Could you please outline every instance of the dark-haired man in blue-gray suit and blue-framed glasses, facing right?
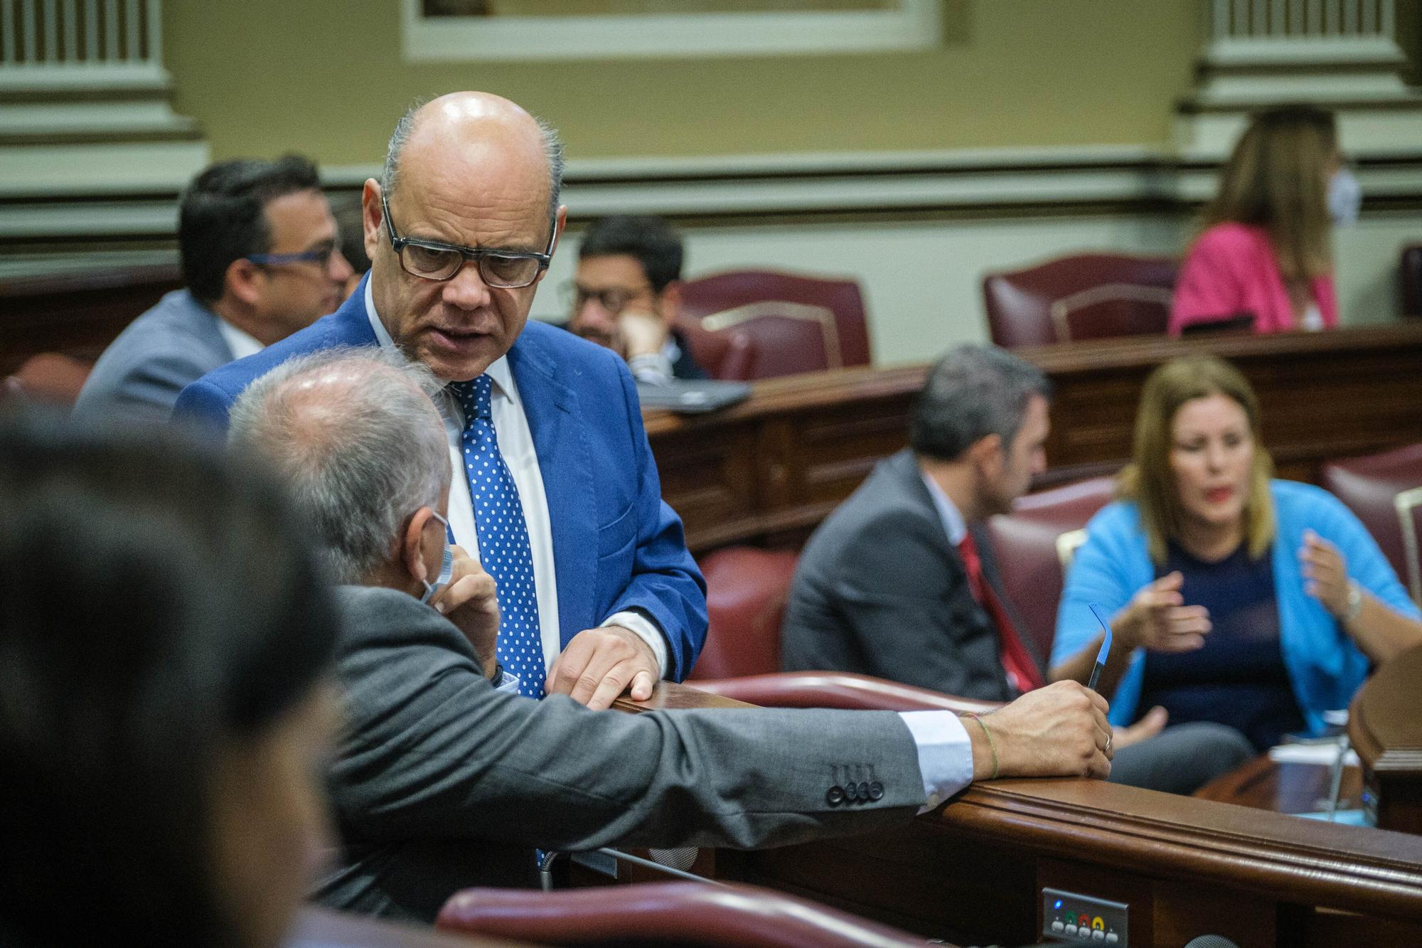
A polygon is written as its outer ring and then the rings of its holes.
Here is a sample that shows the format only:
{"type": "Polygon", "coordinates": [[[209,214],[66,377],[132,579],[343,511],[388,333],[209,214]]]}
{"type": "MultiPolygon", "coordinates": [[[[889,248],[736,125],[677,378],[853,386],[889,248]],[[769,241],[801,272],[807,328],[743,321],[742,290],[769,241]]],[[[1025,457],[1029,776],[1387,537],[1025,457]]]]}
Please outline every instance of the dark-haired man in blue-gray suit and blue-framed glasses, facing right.
{"type": "Polygon", "coordinates": [[[179,199],[186,289],[119,333],[75,411],[165,423],[183,386],[334,310],[351,266],[306,158],[239,158],[202,171],[179,199]]]}

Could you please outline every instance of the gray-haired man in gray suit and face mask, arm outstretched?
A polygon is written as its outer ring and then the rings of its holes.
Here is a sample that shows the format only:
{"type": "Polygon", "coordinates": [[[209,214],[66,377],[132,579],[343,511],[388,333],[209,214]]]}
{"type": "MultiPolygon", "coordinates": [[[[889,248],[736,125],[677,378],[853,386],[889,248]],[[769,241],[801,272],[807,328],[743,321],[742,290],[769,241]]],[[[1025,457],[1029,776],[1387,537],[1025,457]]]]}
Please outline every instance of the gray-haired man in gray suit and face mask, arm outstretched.
{"type": "Polygon", "coordinates": [[[532,847],[764,847],[866,831],[974,777],[1105,776],[1106,703],[1075,682],[966,727],[947,712],[594,712],[508,690],[493,581],[448,545],[439,381],[375,349],[289,360],[232,410],[344,582],[350,725],[330,773],[347,864],[330,905],[431,920],[526,884],[532,847]]]}

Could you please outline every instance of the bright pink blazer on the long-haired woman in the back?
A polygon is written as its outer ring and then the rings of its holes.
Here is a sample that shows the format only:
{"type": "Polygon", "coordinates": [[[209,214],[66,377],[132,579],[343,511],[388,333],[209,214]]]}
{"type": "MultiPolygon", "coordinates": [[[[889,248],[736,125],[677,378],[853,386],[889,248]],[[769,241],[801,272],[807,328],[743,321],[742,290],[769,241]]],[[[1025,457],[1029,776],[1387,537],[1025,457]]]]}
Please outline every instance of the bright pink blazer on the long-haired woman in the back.
{"type": "MultiPolygon", "coordinates": [[[[1332,329],[1338,325],[1332,278],[1315,278],[1313,293],[1324,326],[1332,329]]],[[[1185,258],[1170,305],[1169,332],[1179,336],[1183,326],[1244,313],[1253,313],[1256,333],[1298,327],[1268,233],[1243,223],[1217,223],[1200,235],[1185,258]]]]}

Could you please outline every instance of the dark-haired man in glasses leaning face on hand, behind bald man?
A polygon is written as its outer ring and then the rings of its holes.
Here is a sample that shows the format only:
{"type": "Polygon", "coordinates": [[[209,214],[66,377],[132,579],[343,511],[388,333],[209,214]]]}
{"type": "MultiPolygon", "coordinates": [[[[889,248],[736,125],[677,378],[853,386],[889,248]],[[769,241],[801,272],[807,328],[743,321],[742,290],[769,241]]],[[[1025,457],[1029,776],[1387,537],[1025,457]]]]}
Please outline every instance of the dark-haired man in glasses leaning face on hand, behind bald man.
{"type": "Polygon", "coordinates": [[[681,238],[661,218],[593,221],[565,286],[567,327],[627,360],[637,381],[705,379],[673,320],[681,303],[681,238]]]}

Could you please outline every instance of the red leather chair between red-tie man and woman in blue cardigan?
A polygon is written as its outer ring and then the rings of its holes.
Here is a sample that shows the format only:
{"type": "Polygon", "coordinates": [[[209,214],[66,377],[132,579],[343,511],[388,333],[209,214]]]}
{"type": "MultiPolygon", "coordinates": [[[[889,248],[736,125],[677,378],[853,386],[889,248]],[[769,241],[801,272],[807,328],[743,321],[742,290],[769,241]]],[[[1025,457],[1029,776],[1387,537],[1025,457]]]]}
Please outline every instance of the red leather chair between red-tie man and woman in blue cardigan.
{"type": "Polygon", "coordinates": [[[1057,604],[1071,554],[1085,539],[1082,528],[1111,502],[1115,478],[1094,477],[1049,491],[1027,494],[1012,512],[988,521],[1007,598],[1041,653],[1052,653],[1057,604]]]}

